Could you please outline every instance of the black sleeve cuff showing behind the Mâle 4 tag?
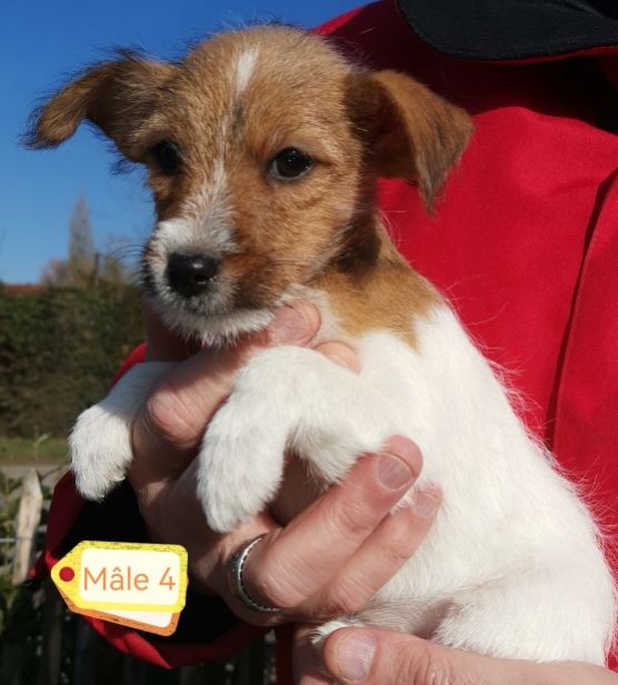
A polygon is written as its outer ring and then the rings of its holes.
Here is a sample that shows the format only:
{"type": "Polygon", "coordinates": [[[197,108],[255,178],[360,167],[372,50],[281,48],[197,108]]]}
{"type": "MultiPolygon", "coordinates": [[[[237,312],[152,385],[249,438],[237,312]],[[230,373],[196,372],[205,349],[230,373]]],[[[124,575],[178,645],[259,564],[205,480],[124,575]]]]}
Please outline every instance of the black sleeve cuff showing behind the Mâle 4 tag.
{"type": "MultiPolygon", "coordinates": [[[[148,543],[143,519],[136,496],[124,482],[103,502],[87,502],[74,526],[64,538],[59,556],[69,553],[82,540],[148,543]]],[[[176,632],[163,637],[136,631],[152,643],[210,643],[239,623],[226,603],[218,597],[187,589],[187,605],[180,613],[176,632]]]]}

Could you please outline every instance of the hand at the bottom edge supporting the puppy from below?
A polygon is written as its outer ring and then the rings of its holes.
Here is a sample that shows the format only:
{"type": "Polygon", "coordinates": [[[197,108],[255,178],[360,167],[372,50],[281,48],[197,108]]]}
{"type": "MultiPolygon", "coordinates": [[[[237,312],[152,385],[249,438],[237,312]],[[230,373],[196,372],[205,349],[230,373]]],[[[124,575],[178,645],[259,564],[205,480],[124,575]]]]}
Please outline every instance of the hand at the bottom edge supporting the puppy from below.
{"type": "Polygon", "coordinates": [[[618,685],[618,674],[591,664],[492,658],[372,628],[337,631],[322,657],[330,677],[299,685],[618,685]]]}

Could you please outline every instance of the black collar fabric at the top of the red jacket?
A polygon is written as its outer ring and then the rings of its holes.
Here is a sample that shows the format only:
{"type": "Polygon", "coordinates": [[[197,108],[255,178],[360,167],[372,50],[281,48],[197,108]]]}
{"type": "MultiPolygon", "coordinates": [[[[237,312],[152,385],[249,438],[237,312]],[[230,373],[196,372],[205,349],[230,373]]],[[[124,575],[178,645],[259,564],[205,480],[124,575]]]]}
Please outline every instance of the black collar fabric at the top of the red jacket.
{"type": "Polygon", "coordinates": [[[618,46],[618,0],[397,0],[415,33],[451,57],[505,60],[618,46]]]}

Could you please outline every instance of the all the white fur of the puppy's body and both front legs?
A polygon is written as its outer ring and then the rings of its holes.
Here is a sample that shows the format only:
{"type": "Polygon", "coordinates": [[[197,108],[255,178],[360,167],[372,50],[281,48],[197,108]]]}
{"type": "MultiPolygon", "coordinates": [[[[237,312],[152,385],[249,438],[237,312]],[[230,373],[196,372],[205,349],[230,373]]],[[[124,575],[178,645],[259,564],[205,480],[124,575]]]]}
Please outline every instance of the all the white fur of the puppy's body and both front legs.
{"type": "MultiPolygon", "coordinates": [[[[336,330],[328,308],[321,314],[336,330]]],[[[443,506],[412,559],[362,610],[321,626],[318,639],[368,624],[495,656],[602,664],[616,602],[589,513],[451,310],[438,307],[413,325],[417,350],[387,331],[357,340],[358,375],[297,347],[249,361],[199,455],[209,524],[230,530],[265,508],[287,447],[328,485],[390,435],[408,436],[423,454],[419,483],[438,483],[443,506]]],[[[162,370],[140,365],[80,417],[71,447],[83,494],[100,497],[122,477],[128,426],[162,370]]]]}

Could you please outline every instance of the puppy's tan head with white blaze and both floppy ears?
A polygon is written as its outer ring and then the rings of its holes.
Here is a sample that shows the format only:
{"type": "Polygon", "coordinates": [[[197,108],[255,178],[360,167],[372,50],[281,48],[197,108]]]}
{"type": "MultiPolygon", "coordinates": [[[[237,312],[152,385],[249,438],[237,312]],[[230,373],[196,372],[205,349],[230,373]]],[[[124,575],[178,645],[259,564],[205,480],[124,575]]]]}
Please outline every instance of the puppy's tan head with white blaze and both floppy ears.
{"type": "Polygon", "coordinates": [[[367,252],[376,177],[416,181],[430,206],[470,133],[412,79],[285,27],[218,36],[179,63],[102,63],[38,112],[30,142],[59,145],[83,120],[148,168],[143,276],[165,321],[219,341],[367,252]]]}

